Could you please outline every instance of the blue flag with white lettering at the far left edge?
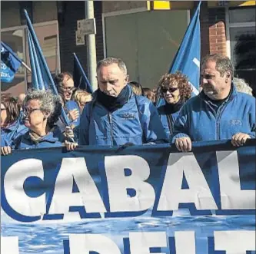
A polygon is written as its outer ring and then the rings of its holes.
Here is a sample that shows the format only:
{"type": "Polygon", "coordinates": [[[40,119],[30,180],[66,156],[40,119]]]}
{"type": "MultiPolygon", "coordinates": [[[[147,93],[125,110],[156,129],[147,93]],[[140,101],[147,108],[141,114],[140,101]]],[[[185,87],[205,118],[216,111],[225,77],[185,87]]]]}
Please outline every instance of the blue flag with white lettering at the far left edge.
{"type": "Polygon", "coordinates": [[[1,81],[11,83],[21,64],[12,48],[1,41],[1,81]]]}

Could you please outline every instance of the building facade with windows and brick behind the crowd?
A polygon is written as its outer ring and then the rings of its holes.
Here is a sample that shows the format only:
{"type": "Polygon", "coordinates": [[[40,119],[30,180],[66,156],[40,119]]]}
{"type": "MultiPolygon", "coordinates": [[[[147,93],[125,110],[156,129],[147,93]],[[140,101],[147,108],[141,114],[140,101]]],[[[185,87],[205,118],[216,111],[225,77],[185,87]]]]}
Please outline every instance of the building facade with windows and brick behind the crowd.
{"type": "MultiPolygon", "coordinates": [[[[50,71],[73,70],[75,52],[87,71],[85,43],[75,35],[77,21],[85,18],[85,2],[1,2],[1,37],[29,65],[25,16],[28,11],[50,71]]],[[[97,60],[123,58],[130,78],[155,87],[168,71],[198,1],[95,1],[97,60]]],[[[255,87],[255,1],[203,1],[201,56],[228,55],[235,74],[255,87]]],[[[20,68],[2,91],[25,92],[31,74],[20,68]]]]}

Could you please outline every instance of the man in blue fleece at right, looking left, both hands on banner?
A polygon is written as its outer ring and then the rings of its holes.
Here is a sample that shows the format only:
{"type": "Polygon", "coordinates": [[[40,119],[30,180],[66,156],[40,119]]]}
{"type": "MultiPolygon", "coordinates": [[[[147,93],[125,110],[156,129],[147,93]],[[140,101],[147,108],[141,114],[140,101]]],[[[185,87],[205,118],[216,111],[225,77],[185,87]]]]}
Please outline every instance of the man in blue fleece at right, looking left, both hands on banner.
{"type": "Polygon", "coordinates": [[[255,138],[255,98],[236,91],[231,60],[207,55],[201,63],[201,87],[181,108],[172,141],[178,150],[191,150],[191,141],[231,140],[235,147],[255,138]]]}

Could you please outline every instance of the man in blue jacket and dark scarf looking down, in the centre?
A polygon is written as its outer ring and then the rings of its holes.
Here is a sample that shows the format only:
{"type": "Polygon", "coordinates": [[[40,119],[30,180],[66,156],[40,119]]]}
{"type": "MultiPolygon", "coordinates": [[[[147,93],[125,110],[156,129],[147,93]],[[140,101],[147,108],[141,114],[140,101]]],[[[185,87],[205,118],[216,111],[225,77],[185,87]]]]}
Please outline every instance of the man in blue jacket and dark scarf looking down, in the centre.
{"type": "Polygon", "coordinates": [[[121,59],[99,61],[97,80],[98,90],[81,114],[79,145],[167,142],[157,109],[146,97],[131,91],[127,68],[121,59]]]}

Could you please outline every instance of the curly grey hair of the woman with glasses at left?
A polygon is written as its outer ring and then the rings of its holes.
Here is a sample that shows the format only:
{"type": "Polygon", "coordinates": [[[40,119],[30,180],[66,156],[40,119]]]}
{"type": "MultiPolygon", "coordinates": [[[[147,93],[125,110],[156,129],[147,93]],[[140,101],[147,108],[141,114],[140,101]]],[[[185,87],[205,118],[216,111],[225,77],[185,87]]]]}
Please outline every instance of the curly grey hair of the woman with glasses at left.
{"type": "Polygon", "coordinates": [[[53,127],[62,111],[61,97],[52,94],[52,91],[29,91],[23,101],[23,108],[28,101],[38,100],[41,111],[48,113],[48,125],[53,127]]]}

